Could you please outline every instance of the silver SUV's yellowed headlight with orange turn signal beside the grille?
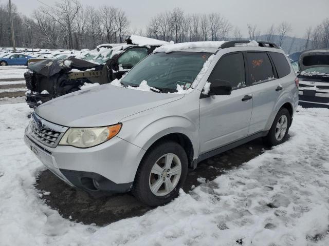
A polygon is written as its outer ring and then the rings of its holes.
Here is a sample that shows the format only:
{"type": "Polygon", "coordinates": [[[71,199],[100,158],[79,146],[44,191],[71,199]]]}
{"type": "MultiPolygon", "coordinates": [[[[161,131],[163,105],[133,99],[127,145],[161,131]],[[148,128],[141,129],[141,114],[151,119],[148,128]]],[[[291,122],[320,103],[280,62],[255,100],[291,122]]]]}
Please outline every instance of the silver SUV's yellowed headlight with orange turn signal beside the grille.
{"type": "Polygon", "coordinates": [[[59,145],[70,145],[78,148],[89,148],[100,145],[113,138],[121,130],[122,124],[108,127],[70,128],[62,137],[59,145]]]}

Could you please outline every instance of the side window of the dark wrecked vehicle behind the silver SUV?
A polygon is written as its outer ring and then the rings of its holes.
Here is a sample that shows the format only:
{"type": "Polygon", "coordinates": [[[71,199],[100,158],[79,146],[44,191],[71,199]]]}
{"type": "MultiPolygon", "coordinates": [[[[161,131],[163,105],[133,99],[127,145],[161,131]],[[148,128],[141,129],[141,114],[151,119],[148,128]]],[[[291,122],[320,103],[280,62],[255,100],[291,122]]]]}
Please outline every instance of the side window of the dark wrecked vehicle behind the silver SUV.
{"type": "Polygon", "coordinates": [[[131,69],[147,55],[147,48],[129,49],[119,57],[118,64],[122,66],[123,69],[131,69]]]}

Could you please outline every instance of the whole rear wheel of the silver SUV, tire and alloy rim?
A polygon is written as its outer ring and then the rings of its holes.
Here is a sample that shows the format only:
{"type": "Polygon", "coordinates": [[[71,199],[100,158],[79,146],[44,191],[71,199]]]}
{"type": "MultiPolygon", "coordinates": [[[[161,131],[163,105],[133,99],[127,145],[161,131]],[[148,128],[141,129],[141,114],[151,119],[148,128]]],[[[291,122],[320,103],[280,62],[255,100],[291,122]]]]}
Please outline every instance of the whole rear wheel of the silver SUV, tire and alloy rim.
{"type": "Polygon", "coordinates": [[[272,127],[267,136],[263,137],[265,144],[268,146],[276,146],[282,144],[286,140],[290,126],[290,113],[286,108],[279,110],[275,117],[272,127]]]}

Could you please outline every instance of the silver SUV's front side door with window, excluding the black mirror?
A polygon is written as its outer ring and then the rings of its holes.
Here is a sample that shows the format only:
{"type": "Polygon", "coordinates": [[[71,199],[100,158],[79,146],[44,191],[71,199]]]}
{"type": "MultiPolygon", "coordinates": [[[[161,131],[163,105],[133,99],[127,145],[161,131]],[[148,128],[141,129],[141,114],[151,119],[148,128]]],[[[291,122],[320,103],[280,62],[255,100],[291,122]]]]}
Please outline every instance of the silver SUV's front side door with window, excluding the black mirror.
{"type": "Polygon", "coordinates": [[[200,153],[242,139],[249,130],[252,97],[246,87],[244,54],[222,56],[209,76],[213,79],[228,81],[232,93],[200,98],[200,153]]]}

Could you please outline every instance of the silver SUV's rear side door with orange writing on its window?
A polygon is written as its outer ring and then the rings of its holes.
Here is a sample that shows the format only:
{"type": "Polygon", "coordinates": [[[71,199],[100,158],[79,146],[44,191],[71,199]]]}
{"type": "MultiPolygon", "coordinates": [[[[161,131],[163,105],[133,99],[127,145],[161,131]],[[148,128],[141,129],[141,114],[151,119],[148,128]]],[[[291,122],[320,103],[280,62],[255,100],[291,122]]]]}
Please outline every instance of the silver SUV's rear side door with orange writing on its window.
{"type": "Polygon", "coordinates": [[[249,135],[263,131],[282,92],[276,69],[268,52],[246,52],[248,81],[253,106],[249,135]]]}

